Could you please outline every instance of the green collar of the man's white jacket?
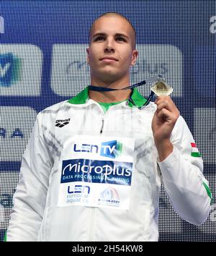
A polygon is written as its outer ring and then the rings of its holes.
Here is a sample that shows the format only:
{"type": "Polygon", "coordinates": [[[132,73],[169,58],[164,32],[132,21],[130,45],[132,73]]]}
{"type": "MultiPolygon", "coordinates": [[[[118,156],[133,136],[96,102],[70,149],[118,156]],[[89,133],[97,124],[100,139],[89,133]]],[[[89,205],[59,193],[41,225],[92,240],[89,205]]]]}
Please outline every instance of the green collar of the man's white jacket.
{"type": "MultiPolygon", "coordinates": [[[[81,91],[81,93],[78,93],[75,97],[68,100],[68,103],[71,104],[84,104],[89,99],[89,88],[85,88],[81,91]]],[[[136,88],[132,89],[132,95],[131,95],[132,101],[135,103],[135,106],[140,107],[143,106],[143,104],[147,101],[136,88]]],[[[132,107],[133,104],[128,101],[128,106],[132,107]]]]}

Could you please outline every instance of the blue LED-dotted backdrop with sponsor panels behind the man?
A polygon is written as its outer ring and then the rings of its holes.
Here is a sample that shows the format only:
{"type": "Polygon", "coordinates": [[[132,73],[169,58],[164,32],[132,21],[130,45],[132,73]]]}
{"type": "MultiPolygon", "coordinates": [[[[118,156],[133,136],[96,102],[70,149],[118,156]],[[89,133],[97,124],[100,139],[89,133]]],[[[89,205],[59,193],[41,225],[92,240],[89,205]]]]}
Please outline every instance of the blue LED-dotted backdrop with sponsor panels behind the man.
{"type": "MultiPolygon", "coordinates": [[[[0,1],[0,234],[9,222],[36,115],[89,84],[89,27],[120,12],[137,30],[131,83],[163,74],[204,159],[215,197],[216,4],[213,1],[0,1]]],[[[140,88],[148,95],[150,85],[140,88]]],[[[161,241],[215,241],[216,205],[202,226],[172,210],[161,190],[161,241]]]]}

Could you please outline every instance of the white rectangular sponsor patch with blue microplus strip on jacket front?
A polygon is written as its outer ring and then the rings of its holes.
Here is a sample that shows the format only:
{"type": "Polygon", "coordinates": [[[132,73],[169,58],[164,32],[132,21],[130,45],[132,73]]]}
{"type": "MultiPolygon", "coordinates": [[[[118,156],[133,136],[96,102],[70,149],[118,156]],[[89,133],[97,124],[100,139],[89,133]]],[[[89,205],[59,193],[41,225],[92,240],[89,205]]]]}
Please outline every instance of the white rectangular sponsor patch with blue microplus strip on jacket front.
{"type": "Polygon", "coordinates": [[[58,207],[86,205],[127,210],[134,145],[134,139],[125,137],[75,136],[64,149],[71,159],[61,163],[58,207]]]}

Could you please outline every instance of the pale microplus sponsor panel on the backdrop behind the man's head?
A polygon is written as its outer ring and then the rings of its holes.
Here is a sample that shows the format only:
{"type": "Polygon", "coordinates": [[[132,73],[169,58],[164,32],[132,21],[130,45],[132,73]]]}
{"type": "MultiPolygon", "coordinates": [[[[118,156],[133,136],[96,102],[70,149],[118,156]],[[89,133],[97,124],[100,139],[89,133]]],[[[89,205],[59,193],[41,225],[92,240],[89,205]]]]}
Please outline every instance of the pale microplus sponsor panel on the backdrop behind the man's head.
{"type": "MultiPolygon", "coordinates": [[[[90,69],[86,62],[87,44],[55,44],[53,46],[51,87],[56,94],[71,96],[73,88],[90,85],[90,69]]],[[[135,67],[130,70],[130,83],[160,74],[167,84],[174,88],[173,96],[182,95],[182,54],[171,45],[138,45],[139,56],[135,67]]],[[[142,91],[149,95],[150,86],[142,91]]],[[[125,85],[126,86],[126,85],[125,85]]]]}

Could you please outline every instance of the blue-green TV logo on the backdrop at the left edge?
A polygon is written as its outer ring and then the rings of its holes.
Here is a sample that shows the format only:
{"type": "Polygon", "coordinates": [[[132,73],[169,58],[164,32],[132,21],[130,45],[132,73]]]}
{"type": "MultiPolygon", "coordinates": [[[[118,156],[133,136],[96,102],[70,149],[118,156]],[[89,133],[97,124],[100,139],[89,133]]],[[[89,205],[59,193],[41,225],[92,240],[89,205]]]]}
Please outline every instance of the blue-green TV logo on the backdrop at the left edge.
{"type": "Polygon", "coordinates": [[[0,54],[0,86],[10,87],[20,77],[20,60],[14,54],[0,54]]]}

